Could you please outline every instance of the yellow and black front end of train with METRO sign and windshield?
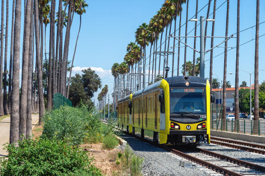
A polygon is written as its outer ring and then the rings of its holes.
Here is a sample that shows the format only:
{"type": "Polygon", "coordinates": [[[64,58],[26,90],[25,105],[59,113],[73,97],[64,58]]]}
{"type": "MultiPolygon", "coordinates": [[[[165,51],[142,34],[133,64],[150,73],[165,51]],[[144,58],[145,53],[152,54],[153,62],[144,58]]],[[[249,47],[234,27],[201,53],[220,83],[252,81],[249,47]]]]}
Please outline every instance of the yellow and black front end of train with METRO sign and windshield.
{"type": "Polygon", "coordinates": [[[170,130],[167,143],[210,143],[210,84],[207,79],[176,76],[169,84],[170,130]]]}

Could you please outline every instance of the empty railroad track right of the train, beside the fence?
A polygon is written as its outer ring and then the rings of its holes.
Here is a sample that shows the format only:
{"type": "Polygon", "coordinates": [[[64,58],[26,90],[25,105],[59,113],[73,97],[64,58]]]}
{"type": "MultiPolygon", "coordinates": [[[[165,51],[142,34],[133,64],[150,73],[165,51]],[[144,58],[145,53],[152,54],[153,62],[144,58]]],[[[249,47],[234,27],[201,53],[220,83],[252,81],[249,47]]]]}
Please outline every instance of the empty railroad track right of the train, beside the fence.
{"type": "Polygon", "coordinates": [[[211,143],[265,155],[264,145],[258,145],[249,142],[234,141],[218,137],[211,137],[211,143]]]}

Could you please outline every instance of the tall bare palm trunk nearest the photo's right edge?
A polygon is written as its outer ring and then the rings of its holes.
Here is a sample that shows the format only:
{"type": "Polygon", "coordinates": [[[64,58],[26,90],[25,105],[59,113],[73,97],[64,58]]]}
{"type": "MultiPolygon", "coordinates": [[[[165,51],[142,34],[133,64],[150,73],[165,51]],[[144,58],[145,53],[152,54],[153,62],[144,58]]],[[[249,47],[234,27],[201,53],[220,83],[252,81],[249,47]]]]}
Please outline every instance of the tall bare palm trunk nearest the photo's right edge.
{"type": "Polygon", "coordinates": [[[256,36],[255,36],[255,78],[254,78],[254,125],[253,134],[258,133],[258,32],[259,32],[259,0],[256,1],[256,36]]]}

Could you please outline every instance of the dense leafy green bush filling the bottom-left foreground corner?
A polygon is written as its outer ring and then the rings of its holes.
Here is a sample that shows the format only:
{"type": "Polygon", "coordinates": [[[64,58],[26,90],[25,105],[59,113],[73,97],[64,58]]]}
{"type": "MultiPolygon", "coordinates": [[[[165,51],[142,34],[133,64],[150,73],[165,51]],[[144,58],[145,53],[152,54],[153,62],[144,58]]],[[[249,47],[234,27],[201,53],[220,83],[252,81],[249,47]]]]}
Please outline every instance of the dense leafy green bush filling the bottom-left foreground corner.
{"type": "Polygon", "coordinates": [[[64,141],[48,139],[24,139],[6,146],[7,158],[0,160],[0,175],[56,175],[66,176],[79,173],[101,175],[92,164],[87,153],[64,141]]]}

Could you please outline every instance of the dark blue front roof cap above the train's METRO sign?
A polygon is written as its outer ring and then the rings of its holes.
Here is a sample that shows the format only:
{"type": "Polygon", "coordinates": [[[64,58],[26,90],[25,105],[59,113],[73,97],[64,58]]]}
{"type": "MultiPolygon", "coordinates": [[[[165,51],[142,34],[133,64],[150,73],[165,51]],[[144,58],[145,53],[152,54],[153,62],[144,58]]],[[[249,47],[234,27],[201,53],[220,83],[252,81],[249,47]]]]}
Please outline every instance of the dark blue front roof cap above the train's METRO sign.
{"type": "Polygon", "coordinates": [[[186,87],[186,81],[189,82],[189,87],[205,87],[207,83],[207,79],[196,76],[173,76],[165,78],[165,80],[169,87],[186,87]]]}

